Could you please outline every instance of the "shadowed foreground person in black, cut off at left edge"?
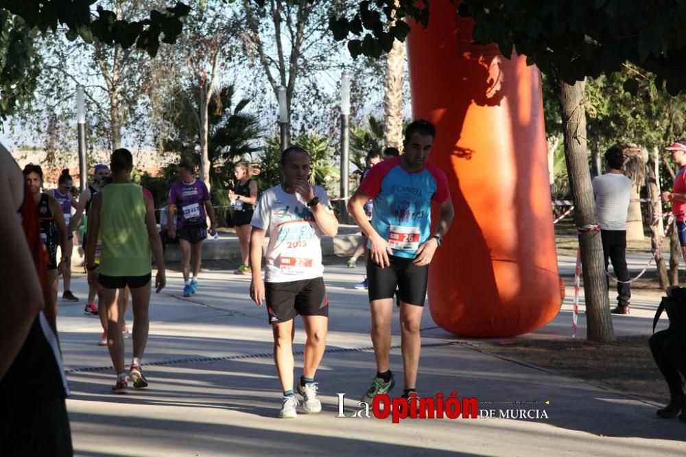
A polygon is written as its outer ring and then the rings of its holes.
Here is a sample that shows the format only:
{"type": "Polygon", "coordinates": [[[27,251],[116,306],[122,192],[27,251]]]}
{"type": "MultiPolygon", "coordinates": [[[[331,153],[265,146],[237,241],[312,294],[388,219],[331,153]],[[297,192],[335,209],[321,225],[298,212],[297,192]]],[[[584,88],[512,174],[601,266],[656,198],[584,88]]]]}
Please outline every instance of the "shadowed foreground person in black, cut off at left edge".
{"type": "Polygon", "coordinates": [[[0,456],[71,456],[64,403],[69,390],[57,340],[40,312],[51,292],[38,212],[13,162],[0,146],[0,228],[8,242],[4,258],[12,265],[0,279],[6,281],[0,307],[0,456]]]}

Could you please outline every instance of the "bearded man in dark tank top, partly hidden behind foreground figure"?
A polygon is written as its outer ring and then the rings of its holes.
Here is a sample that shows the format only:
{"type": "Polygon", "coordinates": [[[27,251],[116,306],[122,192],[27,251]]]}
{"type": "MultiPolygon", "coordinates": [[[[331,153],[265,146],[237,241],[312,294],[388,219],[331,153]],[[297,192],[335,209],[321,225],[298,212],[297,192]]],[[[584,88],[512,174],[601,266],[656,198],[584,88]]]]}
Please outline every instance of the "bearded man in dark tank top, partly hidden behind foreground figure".
{"type": "Polygon", "coordinates": [[[43,187],[43,170],[40,169],[40,166],[29,163],[24,167],[23,174],[36,204],[40,224],[40,239],[48,254],[47,277],[51,293],[49,300],[45,302],[44,313],[53,331],[57,334],[58,275],[62,274],[65,268],[69,268],[69,263],[67,263],[69,259],[64,255],[59,262],[57,261],[57,245],[67,246],[67,225],[64,224],[60,203],[53,196],[43,194],[40,191],[40,188],[43,187]]]}

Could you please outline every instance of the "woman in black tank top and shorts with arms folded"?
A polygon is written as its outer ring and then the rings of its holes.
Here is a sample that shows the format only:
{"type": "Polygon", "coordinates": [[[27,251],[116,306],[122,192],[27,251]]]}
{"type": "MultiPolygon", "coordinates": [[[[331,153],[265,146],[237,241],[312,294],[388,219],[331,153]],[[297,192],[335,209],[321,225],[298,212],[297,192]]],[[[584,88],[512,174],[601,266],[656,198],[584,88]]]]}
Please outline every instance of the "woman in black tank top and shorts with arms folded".
{"type": "Polygon", "coordinates": [[[233,169],[236,177],[235,191],[228,192],[228,198],[233,202],[233,224],[236,228],[236,235],[241,243],[241,266],[235,274],[252,274],[250,270],[250,220],[252,220],[252,210],[257,203],[257,183],[250,179],[252,167],[248,162],[239,162],[233,169]]]}

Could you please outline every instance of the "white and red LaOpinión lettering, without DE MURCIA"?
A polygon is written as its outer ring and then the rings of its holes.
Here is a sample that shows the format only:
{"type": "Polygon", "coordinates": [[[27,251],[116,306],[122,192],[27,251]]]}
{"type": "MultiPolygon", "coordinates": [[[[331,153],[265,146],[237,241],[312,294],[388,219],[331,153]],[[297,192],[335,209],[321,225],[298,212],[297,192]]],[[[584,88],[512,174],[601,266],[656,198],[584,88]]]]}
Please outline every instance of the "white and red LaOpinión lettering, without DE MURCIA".
{"type": "Polygon", "coordinates": [[[479,400],[476,397],[458,397],[458,392],[450,392],[450,395],[436,393],[433,397],[417,397],[415,392],[409,398],[390,397],[379,394],[374,397],[372,404],[365,401],[357,402],[357,411],[346,416],[343,403],[346,394],[338,395],[338,416],[336,417],[376,417],[386,419],[389,416],[393,423],[399,423],[401,419],[478,419],[479,400]],[[370,414],[371,410],[371,414],[370,414]]]}

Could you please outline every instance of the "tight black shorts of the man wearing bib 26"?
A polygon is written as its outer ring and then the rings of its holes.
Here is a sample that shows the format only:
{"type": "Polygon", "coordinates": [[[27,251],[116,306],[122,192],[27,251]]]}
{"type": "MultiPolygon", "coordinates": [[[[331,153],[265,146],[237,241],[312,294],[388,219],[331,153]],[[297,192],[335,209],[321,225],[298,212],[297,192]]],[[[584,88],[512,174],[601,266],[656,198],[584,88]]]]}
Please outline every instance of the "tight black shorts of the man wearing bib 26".
{"type": "Polygon", "coordinates": [[[381,268],[367,259],[367,292],[369,301],[393,298],[396,288],[400,301],[409,305],[424,306],[429,281],[429,266],[416,266],[414,259],[389,255],[390,266],[381,268]]]}

